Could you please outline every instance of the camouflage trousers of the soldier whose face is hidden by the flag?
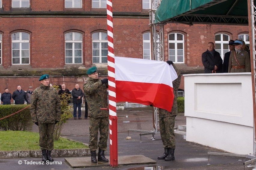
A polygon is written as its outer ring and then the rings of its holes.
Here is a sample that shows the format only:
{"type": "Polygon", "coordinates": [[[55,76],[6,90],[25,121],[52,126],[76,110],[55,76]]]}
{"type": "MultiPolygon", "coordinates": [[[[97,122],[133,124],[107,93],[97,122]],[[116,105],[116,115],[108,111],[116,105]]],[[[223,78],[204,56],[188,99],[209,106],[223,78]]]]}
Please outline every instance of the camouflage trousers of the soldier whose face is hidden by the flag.
{"type": "Polygon", "coordinates": [[[160,135],[164,148],[175,148],[175,116],[159,117],[160,135]]]}

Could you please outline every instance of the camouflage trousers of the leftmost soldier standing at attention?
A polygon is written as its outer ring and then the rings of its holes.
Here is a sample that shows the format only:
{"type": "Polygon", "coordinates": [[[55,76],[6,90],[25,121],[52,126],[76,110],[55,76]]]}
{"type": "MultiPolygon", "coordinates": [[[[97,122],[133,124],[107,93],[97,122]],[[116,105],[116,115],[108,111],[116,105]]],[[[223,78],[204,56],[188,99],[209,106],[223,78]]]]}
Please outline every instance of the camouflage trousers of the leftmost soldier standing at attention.
{"type": "Polygon", "coordinates": [[[54,125],[54,123],[38,124],[39,146],[41,147],[41,150],[53,150],[54,125]]]}

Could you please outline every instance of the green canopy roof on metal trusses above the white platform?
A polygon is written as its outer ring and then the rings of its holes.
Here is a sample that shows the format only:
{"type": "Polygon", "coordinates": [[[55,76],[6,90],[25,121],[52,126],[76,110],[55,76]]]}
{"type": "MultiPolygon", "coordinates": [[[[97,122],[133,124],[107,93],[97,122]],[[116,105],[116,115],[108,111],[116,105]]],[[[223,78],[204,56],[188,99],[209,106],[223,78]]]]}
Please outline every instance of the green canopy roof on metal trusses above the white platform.
{"type": "Polygon", "coordinates": [[[247,0],[162,0],[154,22],[248,25],[247,0]]]}

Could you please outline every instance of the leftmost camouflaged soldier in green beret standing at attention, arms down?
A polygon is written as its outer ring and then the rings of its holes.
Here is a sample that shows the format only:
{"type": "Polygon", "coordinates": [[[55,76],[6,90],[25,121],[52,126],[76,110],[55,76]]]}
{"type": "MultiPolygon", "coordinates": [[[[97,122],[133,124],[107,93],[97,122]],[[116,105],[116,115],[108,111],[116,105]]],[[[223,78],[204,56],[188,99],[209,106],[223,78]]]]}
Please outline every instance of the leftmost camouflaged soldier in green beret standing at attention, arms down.
{"type": "Polygon", "coordinates": [[[53,162],[53,132],[54,125],[60,121],[60,99],[57,90],[49,85],[49,75],[42,75],[39,81],[40,87],[32,93],[30,115],[32,121],[38,125],[42,161],[53,162]]]}

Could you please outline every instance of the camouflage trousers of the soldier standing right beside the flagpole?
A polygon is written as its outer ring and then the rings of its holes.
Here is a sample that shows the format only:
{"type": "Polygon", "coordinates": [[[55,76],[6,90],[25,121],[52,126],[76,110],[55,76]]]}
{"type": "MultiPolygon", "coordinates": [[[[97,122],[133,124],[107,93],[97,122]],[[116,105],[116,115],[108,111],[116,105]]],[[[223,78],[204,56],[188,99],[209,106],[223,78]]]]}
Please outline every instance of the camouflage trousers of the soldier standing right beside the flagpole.
{"type": "Polygon", "coordinates": [[[99,118],[90,117],[90,126],[89,126],[90,151],[96,151],[98,147],[103,151],[107,150],[108,129],[109,129],[108,117],[99,117],[99,118]],[[99,143],[98,143],[98,132],[100,134],[99,143]]]}

